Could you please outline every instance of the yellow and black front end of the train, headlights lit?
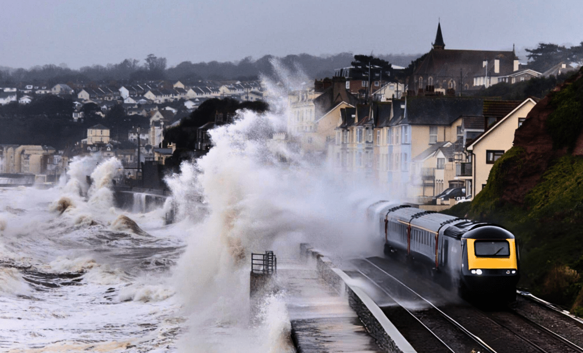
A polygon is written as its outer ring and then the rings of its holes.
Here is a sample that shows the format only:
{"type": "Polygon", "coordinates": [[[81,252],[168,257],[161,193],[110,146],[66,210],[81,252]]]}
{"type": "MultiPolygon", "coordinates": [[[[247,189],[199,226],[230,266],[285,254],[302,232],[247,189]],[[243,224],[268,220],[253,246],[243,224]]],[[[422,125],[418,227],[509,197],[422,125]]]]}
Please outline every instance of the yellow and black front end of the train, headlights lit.
{"type": "Polygon", "coordinates": [[[462,246],[462,292],[502,295],[514,301],[519,279],[516,239],[504,228],[480,224],[465,232],[462,246]]]}

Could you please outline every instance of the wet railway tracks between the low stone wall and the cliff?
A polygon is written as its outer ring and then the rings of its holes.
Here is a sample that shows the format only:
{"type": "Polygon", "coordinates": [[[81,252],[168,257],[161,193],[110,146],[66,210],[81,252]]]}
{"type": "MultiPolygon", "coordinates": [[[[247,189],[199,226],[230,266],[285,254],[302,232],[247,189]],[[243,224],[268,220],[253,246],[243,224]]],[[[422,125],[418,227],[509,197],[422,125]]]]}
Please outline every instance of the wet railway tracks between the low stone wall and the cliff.
{"type": "MultiPolygon", "coordinates": [[[[427,291],[427,283],[424,280],[410,281],[410,277],[403,278],[406,271],[389,271],[385,259],[360,259],[354,260],[353,263],[358,269],[356,273],[353,271],[353,277],[363,278],[372,284],[377,292],[388,296],[395,303],[380,305],[391,321],[401,320],[405,326],[410,324],[408,322],[416,321],[413,330],[419,331],[419,327],[422,326],[424,330],[429,331],[424,333],[425,337],[433,336],[434,341],[441,343],[433,349],[428,349],[427,344],[409,340],[418,352],[583,353],[583,348],[578,344],[514,309],[488,310],[469,305],[461,299],[456,302],[457,298],[451,298],[451,293],[436,295],[441,287],[433,282],[430,284],[439,288],[437,290],[431,288],[431,295],[428,296],[424,293],[427,291]],[[415,320],[403,321],[405,312],[415,320]]],[[[394,268],[395,264],[390,263],[389,266],[394,268]]],[[[405,277],[407,276],[405,274],[405,277]]],[[[378,297],[378,294],[376,295],[378,297]]],[[[408,329],[400,328],[402,332],[408,329]]],[[[416,336],[423,337],[421,334],[416,336]]]]}

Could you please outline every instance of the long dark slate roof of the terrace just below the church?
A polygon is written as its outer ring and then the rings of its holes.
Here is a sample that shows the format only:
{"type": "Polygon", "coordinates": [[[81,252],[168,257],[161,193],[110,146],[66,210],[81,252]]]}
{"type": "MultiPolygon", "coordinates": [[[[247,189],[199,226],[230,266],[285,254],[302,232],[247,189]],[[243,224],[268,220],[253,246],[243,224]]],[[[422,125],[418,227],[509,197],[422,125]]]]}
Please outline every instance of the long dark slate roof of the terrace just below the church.
{"type": "MultiPolygon", "coordinates": [[[[410,125],[450,125],[461,115],[482,115],[483,111],[483,98],[411,97],[406,104],[401,123],[410,125]]],[[[391,121],[391,125],[396,123],[391,121]]]]}

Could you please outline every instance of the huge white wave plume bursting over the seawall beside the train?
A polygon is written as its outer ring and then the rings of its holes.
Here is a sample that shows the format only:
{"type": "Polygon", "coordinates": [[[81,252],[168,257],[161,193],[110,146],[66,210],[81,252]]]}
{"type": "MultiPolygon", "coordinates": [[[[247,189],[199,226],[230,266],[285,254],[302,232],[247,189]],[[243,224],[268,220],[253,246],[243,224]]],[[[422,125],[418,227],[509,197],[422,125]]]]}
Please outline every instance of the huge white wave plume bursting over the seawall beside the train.
{"type": "MultiPolygon", "coordinates": [[[[210,132],[215,146],[206,156],[182,165],[188,178],[174,176],[168,182],[173,194],[180,195],[181,213],[193,211],[188,200],[196,197],[208,207],[202,221],[181,224],[189,245],[175,270],[178,295],[192,313],[185,340],[206,341],[206,351],[240,348],[209,336],[209,327],[217,326],[248,330],[241,335],[248,338],[243,345],[258,351],[286,342],[289,331],[282,322],[273,322],[273,315],[264,316],[259,327],[248,327],[251,252],[277,253],[274,245],[285,247],[282,252],[297,249],[298,243],[289,242],[293,240],[349,254],[370,243],[362,234],[361,218],[352,217],[354,205],[347,202],[359,198],[353,190],[336,184],[325,168],[297,152],[287,151],[282,162],[269,149],[267,142],[282,119],[285,115],[273,112],[240,112],[234,124],[210,132]],[[264,329],[272,326],[280,328],[265,335],[264,329]]],[[[285,315],[279,317],[285,321],[285,315]]]]}

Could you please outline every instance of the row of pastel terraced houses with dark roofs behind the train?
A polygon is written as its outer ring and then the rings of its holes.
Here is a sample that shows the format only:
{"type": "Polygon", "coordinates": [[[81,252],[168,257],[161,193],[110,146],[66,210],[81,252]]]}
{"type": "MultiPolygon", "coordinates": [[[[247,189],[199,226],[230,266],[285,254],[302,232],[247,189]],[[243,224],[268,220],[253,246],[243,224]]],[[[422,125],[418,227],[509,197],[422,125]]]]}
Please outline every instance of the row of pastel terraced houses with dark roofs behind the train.
{"type": "Polygon", "coordinates": [[[362,174],[412,202],[452,184],[463,153],[464,115],[482,116],[481,98],[417,97],[340,110],[329,163],[362,174]]]}

